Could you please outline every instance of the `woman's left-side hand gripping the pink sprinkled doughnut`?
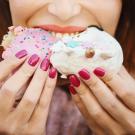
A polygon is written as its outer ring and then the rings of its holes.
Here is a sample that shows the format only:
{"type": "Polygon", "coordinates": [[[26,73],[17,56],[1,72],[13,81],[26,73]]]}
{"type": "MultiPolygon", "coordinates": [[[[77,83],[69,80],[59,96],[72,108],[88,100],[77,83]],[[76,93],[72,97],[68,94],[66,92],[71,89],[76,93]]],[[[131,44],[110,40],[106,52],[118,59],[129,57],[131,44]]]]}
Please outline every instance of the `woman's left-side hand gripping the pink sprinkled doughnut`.
{"type": "Polygon", "coordinates": [[[54,68],[49,69],[48,59],[40,64],[37,55],[30,58],[26,55],[27,52],[23,50],[16,57],[0,63],[0,135],[45,134],[57,72],[54,68]],[[21,101],[13,108],[17,93],[28,82],[21,101]]]}

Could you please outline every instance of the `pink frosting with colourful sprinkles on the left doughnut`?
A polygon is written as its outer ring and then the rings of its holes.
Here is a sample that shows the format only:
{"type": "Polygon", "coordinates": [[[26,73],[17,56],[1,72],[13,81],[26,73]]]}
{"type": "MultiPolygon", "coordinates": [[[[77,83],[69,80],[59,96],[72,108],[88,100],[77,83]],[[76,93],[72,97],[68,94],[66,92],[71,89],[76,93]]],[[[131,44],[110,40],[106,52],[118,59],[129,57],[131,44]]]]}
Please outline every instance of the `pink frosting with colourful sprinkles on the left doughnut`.
{"type": "Polygon", "coordinates": [[[18,51],[27,50],[29,55],[38,54],[41,58],[49,56],[50,47],[57,42],[49,32],[40,28],[22,28],[16,27],[11,32],[15,37],[10,43],[9,47],[3,52],[2,57],[5,59],[18,51]]]}

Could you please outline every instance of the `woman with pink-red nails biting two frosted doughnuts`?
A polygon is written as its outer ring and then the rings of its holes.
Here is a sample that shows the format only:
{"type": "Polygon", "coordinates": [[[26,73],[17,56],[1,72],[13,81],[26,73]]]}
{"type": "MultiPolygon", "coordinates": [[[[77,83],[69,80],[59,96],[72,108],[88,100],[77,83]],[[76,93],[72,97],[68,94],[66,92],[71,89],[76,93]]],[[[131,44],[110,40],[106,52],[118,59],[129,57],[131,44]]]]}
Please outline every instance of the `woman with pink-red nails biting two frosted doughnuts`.
{"type": "MultiPolygon", "coordinates": [[[[1,4],[4,3],[5,1],[1,1],[1,4]]],[[[109,73],[107,69],[99,67],[91,73],[82,69],[78,72],[80,78],[76,75],[69,77],[71,83],[69,90],[93,133],[134,135],[135,1],[9,0],[9,4],[13,25],[29,27],[47,24],[83,27],[95,25],[102,27],[119,40],[124,51],[126,69],[122,66],[118,74],[109,73]]],[[[54,29],[50,27],[50,31],[54,29]]],[[[71,107],[73,103],[70,98],[68,99],[62,91],[55,91],[52,109],[49,111],[57,71],[50,68],[48,63],[47,59],[39,63],[37,55],[27,58],[27,52],[22,51],[0,63],[0,134],[90,134],[78,111],[71,107]],[[7,78],[17,67],[19,67],[17,72],[7,78]],[[22,86],[26,86],[24,95],[13,108],[22,86]]]]}

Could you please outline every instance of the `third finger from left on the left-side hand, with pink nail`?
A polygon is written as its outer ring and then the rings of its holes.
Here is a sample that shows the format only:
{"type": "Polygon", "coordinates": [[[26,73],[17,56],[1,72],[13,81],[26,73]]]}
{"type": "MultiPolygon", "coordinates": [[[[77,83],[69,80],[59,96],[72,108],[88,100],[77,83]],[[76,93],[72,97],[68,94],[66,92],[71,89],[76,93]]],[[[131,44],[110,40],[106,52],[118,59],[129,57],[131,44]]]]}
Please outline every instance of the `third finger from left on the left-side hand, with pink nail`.
{"type": "Polygon", "coordinates": [[[41,63],[41,66],[37,68],[30,85],[28,86],[20,104],[15,111],[15,114],[17,114],[17,119],[21,121],[21,123],[26,123],[30,119],[38,103],[48,75],[49,65],[50,62],[46,58],[41,63]]]}

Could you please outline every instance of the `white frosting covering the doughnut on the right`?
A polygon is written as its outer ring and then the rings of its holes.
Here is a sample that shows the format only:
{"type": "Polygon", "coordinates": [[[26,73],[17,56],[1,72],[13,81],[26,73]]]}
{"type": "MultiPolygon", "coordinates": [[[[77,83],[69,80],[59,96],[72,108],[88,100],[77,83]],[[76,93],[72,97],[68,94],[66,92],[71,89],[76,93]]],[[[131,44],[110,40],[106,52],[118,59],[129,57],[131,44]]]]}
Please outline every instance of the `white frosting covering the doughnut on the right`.
{"type": "Polygon", "coordinates": [[[102,67],[113,72],[118,72],[123,62],[123,52],[120,44],[108,33],[97,28],[88,28],[80,36],[63,38],[55,43],[52,48],[50,61],[52,65],[62,74],[76,74],[85,68],[93,71],[96,67],[102,67]],[[81,45],[68,45],[74,41],[81,45]],[[92,58],[85,56],[86,48],[92,48],[95,55],[92,58]],[[102,55],[107,55],[104,59],[102,55]]]}

